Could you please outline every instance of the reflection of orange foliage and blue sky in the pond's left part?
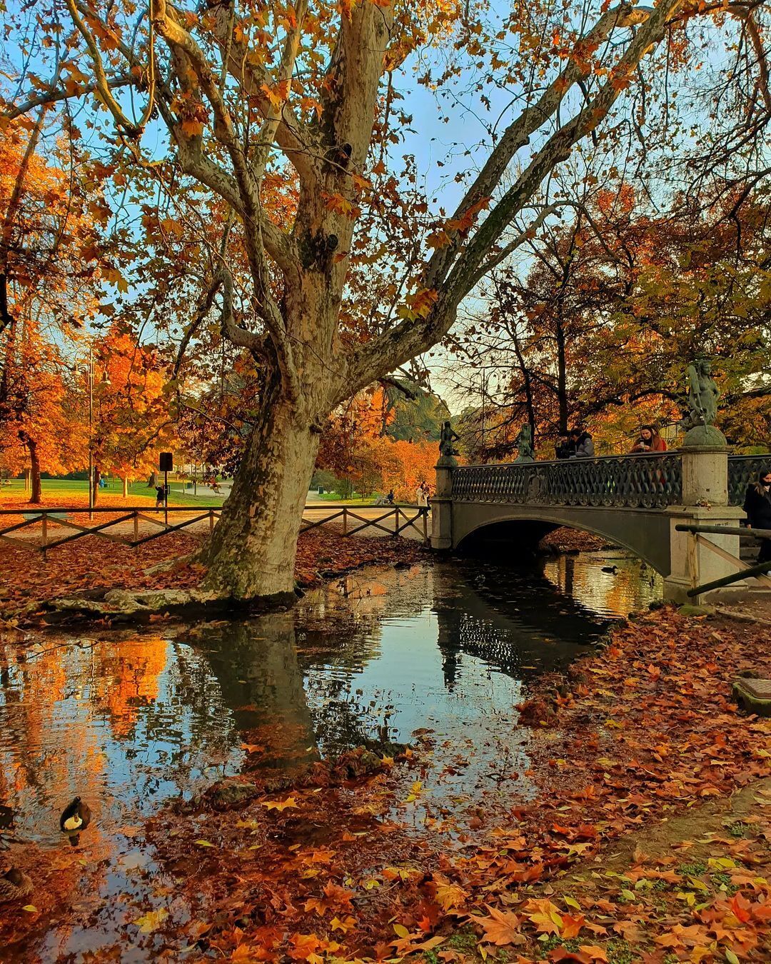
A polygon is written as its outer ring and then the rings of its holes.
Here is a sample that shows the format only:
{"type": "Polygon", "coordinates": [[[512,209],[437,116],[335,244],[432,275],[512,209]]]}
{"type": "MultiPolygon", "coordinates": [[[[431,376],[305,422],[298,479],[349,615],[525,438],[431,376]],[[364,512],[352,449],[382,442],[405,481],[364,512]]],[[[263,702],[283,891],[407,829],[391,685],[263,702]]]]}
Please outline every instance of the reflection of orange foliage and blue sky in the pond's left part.
{"type": "MultiPolygon", "coordinates": [[[[41,648],[52,645],[47,636],[41,648]]],[[[76,794],[114,829],[234,771],[235,736],[205,657],[188,646],[156,636],[33,651],[9,660],[0,685],[0,801],[32,839],[61,841],[59,814],[76,794]]]]}

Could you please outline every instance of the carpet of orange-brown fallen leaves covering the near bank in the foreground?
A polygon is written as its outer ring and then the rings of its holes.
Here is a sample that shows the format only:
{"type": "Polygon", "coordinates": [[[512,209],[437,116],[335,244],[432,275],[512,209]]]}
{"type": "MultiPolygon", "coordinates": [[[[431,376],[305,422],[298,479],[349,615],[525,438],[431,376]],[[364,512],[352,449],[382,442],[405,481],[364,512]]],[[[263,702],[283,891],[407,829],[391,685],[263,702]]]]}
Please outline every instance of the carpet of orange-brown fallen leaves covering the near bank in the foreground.
{"type": "Polygon", "coordinates": [[[367,776],[164,810],[163,886],[126,939],[173,961],[771,960],[771,722],[731,702],[746,670],[771,677],[767,634],[657,610],[531,688],[534,799],[511,774],[498,811],[435,804],[418,743],[367,776]]]}

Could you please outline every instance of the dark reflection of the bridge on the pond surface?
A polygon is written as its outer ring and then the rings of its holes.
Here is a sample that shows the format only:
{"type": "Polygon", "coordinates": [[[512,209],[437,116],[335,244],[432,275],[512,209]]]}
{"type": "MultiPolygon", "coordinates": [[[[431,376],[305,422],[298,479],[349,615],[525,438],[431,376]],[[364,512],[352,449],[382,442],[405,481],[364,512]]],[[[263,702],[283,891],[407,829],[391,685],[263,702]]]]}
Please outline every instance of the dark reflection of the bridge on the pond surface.
{"type": "Polygon", "coordinates": [[[452,690],[464,654],[509,676],[563,668],[605,623],[532,570],[468,563],[435,566],[434,609],[445,686],[452,690]],[[464,577],[465,576],[465,577],[464,577]]]}

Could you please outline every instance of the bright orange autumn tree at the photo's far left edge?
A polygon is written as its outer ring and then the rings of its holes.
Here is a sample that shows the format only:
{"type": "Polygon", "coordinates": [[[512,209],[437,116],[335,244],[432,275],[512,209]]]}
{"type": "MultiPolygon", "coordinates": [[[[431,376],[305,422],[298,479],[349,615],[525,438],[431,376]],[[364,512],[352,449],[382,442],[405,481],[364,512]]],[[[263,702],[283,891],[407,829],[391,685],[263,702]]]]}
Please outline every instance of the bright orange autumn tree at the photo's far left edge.
{"type": "Polygon", "coordinates": [[[105,267],[99,193],[60,166],[65,134],[53,136],[50,160],[41,156],[45,114],[0,124],[0,452],[6,470],[29,470],[33,502],[41,471],[83,461],[66,356],[93,318],[105,267]]]}

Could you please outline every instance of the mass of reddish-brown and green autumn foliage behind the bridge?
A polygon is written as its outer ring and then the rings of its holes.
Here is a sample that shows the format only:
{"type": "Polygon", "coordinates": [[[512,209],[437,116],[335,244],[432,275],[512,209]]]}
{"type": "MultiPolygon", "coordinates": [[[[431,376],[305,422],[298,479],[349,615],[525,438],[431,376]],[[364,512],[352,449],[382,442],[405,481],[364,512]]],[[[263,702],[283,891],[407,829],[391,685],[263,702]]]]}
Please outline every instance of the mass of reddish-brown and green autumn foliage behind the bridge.
{"type": "Polygon", "coordinates": [[[494,272],[456,338],[469,397],[490,383],[482,364],[503,382],[477,404],[488,422],[480,454],[508,454],[522,422],[547,448],[586,421],[596,442],[604,430],[628,446],[641,424],[678,420],[685,364],[702,353],[731,442],[767,444],[770,218],[764,192],[735,188],[675,198],[655,216],[622,183],[529,240],[529,270],[494,272]]]}

